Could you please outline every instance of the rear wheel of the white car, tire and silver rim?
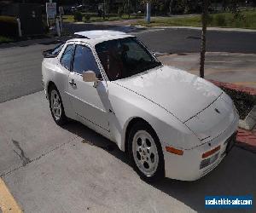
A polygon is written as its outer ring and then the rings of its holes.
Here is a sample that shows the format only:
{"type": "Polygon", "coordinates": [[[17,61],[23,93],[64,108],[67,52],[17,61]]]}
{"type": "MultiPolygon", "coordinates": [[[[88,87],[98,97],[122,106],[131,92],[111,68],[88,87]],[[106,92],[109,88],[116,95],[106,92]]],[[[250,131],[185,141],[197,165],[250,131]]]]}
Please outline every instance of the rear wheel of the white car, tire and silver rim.
{"type": "Polygon", "coordinates": [[[61,95],[55,86],[49,88],[49,109],[56,124],[61,126],[67,123],[61,95]]]}

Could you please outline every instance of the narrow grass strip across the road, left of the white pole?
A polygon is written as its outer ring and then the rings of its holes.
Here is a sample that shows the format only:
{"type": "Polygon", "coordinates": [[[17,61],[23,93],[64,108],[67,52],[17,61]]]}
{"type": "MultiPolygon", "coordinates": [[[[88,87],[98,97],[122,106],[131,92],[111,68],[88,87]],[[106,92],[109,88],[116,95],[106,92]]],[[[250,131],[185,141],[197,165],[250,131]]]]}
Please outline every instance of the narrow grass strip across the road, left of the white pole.
{"type": "MultiPolygon", "coordinates": [[[[83,17],[83,21],[86,23],[91,23],[91,22],[97,22],[97,21],[129,20],[129,19],[140,19],[140,18],[142,18],[142,16],[131,14],[130,18],[129,18],[128,14],[123,14],[122,17],[113,16],[113,15],[108,17],[108,15],[106,15],[105,20],[103,20],[102,17],[99,17],[96,14],[94,14],[94,15],[90,15],[90,20],[85,20],[83,17]]],[[[64,22],[75,22],[73,19],[73,15],[63,15],[63,21],[64,22]]]]}

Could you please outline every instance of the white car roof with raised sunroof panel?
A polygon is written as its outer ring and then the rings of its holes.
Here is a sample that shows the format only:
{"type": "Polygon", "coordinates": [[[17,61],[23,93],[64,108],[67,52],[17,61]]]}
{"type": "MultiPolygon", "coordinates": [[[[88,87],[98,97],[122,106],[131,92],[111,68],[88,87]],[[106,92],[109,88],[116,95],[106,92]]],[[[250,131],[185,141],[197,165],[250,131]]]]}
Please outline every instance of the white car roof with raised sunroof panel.
{"type": "Polygon", "coordinates": [[[91,45],[96,45],[96,43],[102,43],[104,41],[119,39],[124,37],[134,37],[125,32],[119,31],[84,31],[84,32],[75,32],[76,38],[70,39],[67,42],[85,42],[90,43],[91,45]]]}

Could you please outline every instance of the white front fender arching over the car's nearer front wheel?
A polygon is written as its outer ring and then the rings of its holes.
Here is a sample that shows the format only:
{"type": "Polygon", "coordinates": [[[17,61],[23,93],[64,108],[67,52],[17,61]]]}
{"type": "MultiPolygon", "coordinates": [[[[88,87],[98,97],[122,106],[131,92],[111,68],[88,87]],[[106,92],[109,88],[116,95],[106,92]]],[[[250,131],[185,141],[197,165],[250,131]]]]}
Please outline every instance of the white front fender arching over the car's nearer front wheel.
{"type": "Polygon", "coordinates": [[[142,95],[136,95],[117,83],[108,83],[108,94],[115,113],[109,117],[110,130],[121,150],[125,150],[125,130],[132,118],[143,118],[153,127],[160,141],[170,146],[189,149],[200,143],[185,124],[142,95]]]}

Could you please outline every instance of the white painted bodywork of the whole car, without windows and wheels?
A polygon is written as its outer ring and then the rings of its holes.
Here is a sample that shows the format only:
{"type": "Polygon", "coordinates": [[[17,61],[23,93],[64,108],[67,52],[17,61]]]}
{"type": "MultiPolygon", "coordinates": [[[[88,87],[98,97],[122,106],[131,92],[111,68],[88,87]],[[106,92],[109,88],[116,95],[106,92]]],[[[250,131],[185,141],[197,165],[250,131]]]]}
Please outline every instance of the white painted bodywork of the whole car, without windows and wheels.
{"type": "Polygon", "coordinates": [[[211,150],[213,145],[221,145],[224,150],[224,141],[234,133],[238,124],[230,97],[212,83],[171,66],[159,66],[137,76],[108,81],[97,58],[95,44],[123,37],[129,35],[67,41],[87,43],[92,49],[103,77],[97,88],[60,65],[62,50],[57,58],[44,59],[45,89],[49,81],[54,82],[67,117],[108,137],[122,151],[125,151],[126,128],[131,119],[143,118],[160,139],[166,176],[192,181],[207,174],[199,170],[201,154],[211,150]],[[77,89],[69,85],[71,79],[77,83],[77,89]],[[215,108],[221,113],[217,115],[215,108]],[[201,140],[205,137],[206,140],[201,140]],[[212,147],[207,141],[211,141],[212,147]],[[166,146],[183,149],[183,156],[166,153],[166,146]]]}

